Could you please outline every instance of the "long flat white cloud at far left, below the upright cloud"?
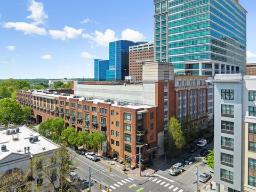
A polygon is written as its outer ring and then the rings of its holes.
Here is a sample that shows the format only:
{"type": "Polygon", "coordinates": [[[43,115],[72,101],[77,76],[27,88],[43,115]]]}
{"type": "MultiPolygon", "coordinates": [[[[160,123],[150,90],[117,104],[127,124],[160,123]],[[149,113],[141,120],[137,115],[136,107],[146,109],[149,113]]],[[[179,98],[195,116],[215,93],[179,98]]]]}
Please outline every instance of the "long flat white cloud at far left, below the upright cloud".
{"type": "Polygon", "coordinates": [[[46,35],[44,28],[39,28],[33,24],[26,22],[7,22],[3,24],[4,28],[15,28],[15,30],[21,30],[24,34],[36,34],[36,35],[46,35]]]}

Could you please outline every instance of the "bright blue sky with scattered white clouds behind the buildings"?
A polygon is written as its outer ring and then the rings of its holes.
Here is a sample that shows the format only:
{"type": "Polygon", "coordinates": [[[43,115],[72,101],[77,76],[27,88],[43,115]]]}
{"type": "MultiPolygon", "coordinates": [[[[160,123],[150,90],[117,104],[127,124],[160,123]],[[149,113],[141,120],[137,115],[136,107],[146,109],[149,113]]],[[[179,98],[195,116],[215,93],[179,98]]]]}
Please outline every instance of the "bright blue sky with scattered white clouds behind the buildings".
{"type": "MultiPolygon", "coordinates": [[[[247,14],[247,62],[256,62],[256,1],[247,14]]],[[[153,0],[1,0],[0,79],[93,78],[108,42],[153,42],[153,0]]]]}

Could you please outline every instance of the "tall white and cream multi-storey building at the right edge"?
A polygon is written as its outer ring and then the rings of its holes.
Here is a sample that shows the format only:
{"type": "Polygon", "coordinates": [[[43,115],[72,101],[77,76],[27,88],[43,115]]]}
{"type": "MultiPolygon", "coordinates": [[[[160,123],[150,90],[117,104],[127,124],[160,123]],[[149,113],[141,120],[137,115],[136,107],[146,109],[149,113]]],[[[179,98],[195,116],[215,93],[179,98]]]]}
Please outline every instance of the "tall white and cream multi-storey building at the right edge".
{"type": "Polygon", "coordinates": [[[216,191],[256,191],[256,76],[216,75],[212,82],[216,191]]]}

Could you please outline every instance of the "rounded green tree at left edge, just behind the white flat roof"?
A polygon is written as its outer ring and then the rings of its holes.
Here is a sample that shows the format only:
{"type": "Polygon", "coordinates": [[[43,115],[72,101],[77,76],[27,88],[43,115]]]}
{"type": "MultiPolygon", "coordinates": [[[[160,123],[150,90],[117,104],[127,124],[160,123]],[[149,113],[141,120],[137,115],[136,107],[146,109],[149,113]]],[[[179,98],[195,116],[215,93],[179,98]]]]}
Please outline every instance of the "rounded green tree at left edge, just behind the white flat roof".
{"type": "Polygon", "coordinates": [[[23,110],[14,99],[4,98],[0,100],[0,123],[20,124],[24,120],[23,110]]]}

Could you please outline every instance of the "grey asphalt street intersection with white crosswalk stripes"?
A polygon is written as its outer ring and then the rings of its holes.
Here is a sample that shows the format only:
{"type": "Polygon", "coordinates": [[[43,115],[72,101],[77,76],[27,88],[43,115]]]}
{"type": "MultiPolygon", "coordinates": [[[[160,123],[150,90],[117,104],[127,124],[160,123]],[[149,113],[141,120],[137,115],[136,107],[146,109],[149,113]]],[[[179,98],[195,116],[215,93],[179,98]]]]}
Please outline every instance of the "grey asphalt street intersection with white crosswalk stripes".
{"type": "MultiPolygon", "coordinates": [[[[213,142],[206,146],[207,149],[213,148],[213,142]]],[[[198,177],[203,172],[209,172],[208,165],[202,162],[203,157],[199,157],[200,149],[194,154],[197,162],[195,164],[198,166],[198,177]]],[[[79,175],[79,177],[84,181],[83,189],[86,191],[88,187],[88,173],[89,166],[91,166],[91,173],[97,172],[107,165],[102,163],[101,161],[93,162],[85,156],[74,155],[74,159],[77,162],[77,169],[75,172],[79,175]]],[[[182,162],[182,159],[178,159],[177,162],[182,162]]],[[[184,171],[182,175],[178,174],[177,176],[172,176],[168,173],[172,164],[177,163],[172,162],[169,165],[166,165],[161,170],[157,171],[155,174],[145,177],[141,180],[136,180],[129,175],[126,175],[120,171],[112,169],[112,172],[109,173],[108,167],[98,173],[92,175],[95,181],[92,182],[91,191],[102,191],[105,192],[106,187],[110,188],[110,191],[136,191],[136,192],[153,192],[153,191],[170,191],[170,192],[194,192],[196,191],[196,175],[190,173],[188,171],[184,171]],[[99,190],[99,182],[102,185],[102,189],[99,190]],[[194,184],[193,184],[194,183],[194,184]]],[[[185,165],[185,169],[190,171],[196,171],[196,167],[194,164],[185,165]]],[[[211,175],[213,175],[211,173],[211,175]]],[[[198,187],[203,187],[205,184],[198,182],[198,187]]]]}

